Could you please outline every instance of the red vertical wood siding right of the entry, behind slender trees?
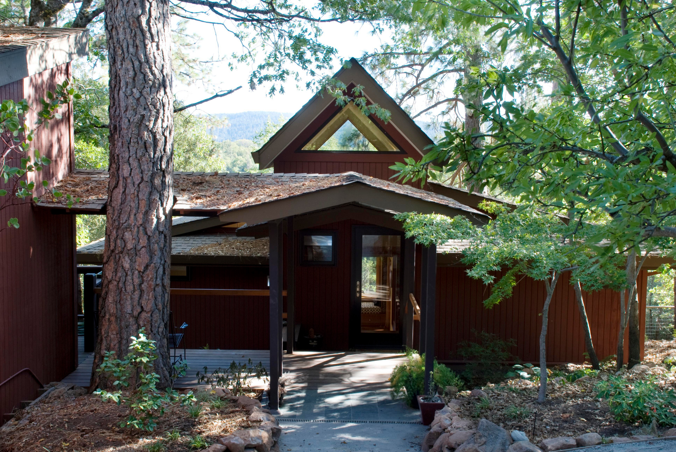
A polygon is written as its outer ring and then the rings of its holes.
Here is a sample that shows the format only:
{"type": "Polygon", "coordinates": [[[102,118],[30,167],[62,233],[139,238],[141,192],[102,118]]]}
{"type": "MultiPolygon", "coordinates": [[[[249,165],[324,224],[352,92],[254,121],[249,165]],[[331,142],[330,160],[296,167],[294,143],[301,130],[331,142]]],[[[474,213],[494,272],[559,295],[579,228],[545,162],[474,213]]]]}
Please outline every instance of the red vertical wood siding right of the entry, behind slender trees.
{"type": "MultiPolygon", "coordinates": [[[[639,276],[639,312],[644,334],[646,272],[639,276]]],[[[582,362],[585,343],[580,316],[569,274],[558,282],[550,306],[547,341],[548,361],[582,362]]],[[[462,361],[456,353],[462,341],[472,341],[472,330],[497,334],[516,340],[512,354],[521,361],[539,360],[538,340],[542,305],[546,296],[544,283],[524,278],[514,287],[510,299],[492,309],[483,307],[486,286],[469,278],[462,267],[437,268],[437,305],[435,355],[441,361],[462,361]]],[[[598,291],[583,293],[592,329],[594,347],[600,359],[614,355],[619,328],[619,293],[598,291]]],[[[628,340],[625,338],[625,340],[628,340]]],[[[625,355],[628,353],[625,347],[625,355]]]]}

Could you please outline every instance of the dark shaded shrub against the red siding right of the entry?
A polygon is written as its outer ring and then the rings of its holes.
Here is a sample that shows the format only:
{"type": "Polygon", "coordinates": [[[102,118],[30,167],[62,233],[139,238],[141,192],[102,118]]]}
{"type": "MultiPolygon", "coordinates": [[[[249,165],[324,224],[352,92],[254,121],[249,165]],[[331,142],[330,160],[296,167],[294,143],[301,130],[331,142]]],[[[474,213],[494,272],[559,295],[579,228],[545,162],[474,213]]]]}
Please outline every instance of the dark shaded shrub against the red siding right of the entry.
{"type": "Polygon", "coordinates": [[[470,386],[484,386],[487,382],[496,382],[504,378],[504,362],[513,359],[510,350],[516,347],[516,341],[504,341],[497,334],[472,330],[474,341],[458,344],[458,354],[471,361],[462,372],[470,386]]]}

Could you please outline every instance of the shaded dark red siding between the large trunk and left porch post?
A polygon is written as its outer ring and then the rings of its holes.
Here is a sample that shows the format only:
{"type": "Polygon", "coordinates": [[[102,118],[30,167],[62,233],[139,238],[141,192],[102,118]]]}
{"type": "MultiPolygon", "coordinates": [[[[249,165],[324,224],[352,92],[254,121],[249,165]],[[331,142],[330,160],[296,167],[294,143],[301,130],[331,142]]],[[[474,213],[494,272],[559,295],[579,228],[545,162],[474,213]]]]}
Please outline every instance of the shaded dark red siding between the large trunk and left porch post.
{"type": "MultiPolygon", "coordinates": [[[[193,267],[190,281],[172,281],[176,288],[268,288],[268,268],[193,267]]],[[[185,345],[189,349],[270,348],[269,297],[213,297],[172,295],[174,324],[186,322],[185,345]]]]}

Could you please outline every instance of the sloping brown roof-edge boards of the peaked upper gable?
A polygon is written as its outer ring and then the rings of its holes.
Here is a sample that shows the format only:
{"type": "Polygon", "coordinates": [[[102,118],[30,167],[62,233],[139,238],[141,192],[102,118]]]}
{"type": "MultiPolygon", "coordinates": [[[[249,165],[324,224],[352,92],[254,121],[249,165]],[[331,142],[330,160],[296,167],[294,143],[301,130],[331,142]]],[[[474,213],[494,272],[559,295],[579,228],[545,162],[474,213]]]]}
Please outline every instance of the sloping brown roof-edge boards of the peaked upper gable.
{"type": "MultiPolygon", "coordinates": [[[[415,149],[416,155],[421,157],[427,153],[427,147],[434,142],[427,136],[423,129],[416,124],[414,120],[387,94],[383,87],[373,78],[359,62],[349,59],[349,68],[343,67],[333,76],[345,83],[347,86],[364,86],[364,96],[371,103],[377,103],[387,109],[390,114],[390,120],[387,124],[393,126],[402,135],[402,140],[407,141],[415,149]]],[[[310,124],[321,116],[328,109],[339,110],[341,107],[336,105],[336,101],[330,95],[319,92],[312,96],[308,103],[297,111],[258,151],[251,155],[254,157],[254,163],[259,164],[260,168],[270,168],[276,157],[279,157],[285,149],[299,135],[301,135],[310,124]]],[[[375,118],[374,118],[375,119],[375,118]]],[[[318,132],[314,130],[313,132],[318,132]]],[[[401,143],[400,143],[401,144],[401,143]]],[[[374,151],[374,153],[377,153],[374,151]]],[[[412,155],[413,157],[414,155],[412,155]]]]}

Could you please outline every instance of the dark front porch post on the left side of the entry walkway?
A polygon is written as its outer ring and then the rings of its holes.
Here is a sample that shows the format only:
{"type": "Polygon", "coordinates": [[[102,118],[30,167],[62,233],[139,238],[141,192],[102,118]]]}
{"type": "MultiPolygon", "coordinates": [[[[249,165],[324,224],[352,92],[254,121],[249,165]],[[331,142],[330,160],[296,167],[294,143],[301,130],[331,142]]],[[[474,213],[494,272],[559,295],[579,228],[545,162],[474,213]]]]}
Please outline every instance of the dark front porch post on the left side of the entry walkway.
{"type": "Polygon", "coordinates": [[[281,220],[268,222],[270,236],[270,394],[268,406],[279,408],[279,376],[282,347],[283,227],[281,220]]]}

